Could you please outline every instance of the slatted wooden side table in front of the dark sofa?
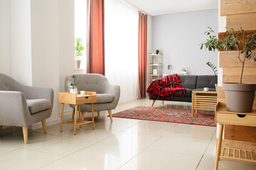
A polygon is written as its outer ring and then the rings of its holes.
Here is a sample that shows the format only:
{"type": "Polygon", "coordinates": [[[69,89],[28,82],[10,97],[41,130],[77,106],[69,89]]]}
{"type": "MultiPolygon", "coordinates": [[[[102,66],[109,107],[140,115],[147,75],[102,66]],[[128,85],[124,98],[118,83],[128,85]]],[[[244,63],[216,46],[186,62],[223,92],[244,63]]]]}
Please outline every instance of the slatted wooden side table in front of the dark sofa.
{"type": "Polygon", "coordinates": [[[215,110],[217,104],[217,91],[193,91],[191,115],[194,115],[194,109],[215,110]]]}

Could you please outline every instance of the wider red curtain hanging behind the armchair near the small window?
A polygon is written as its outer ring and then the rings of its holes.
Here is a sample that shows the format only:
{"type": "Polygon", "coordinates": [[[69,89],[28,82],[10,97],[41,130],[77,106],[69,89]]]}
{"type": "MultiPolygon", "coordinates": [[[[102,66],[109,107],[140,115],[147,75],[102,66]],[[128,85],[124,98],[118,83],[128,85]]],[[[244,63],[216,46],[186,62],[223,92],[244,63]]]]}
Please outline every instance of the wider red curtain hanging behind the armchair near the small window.
{"type": "Polygon", "coordinates": [[[105,75],[104,0],[87,0],[87,73],[105,75]]]}

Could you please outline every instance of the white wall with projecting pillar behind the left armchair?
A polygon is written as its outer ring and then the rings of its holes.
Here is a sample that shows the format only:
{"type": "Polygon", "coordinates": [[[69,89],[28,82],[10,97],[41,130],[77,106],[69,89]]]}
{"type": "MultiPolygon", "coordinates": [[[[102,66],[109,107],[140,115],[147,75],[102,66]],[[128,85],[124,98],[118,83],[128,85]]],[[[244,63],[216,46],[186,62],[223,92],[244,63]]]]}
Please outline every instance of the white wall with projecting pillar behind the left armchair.
{"type": "Polygon", "coordinates": [[[75,69],[74,10],[74,0],[0,1],[0,72],[55,91],[48,125],[60,122],[58,92],[75,69]]]}

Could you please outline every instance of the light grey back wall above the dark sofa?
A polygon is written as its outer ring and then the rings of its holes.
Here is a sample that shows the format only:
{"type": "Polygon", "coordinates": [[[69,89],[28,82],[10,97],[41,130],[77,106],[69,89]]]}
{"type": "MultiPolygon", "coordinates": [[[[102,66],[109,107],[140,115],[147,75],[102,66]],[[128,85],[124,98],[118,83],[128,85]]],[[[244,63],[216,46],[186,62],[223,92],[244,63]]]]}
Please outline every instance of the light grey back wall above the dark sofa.
{"type": "Polygon", "coordinates": [[[152,17],[152,52],[159,49],[163,54],[163,73],[181,72],[188,68],[188,74],[213,74],[206,65],[212,62],[217,66],[218,52],[200,50],[200,43],[207,36],[203,33],[213,28],[218,35],[218,10],[194,11],[152,17]]]}

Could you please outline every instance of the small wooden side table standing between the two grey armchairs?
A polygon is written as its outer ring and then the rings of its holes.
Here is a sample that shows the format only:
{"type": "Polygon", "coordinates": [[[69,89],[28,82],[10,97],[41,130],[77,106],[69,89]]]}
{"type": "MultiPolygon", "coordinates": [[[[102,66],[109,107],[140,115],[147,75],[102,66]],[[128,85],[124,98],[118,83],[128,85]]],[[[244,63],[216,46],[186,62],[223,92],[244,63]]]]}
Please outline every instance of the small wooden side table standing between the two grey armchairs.
{"type": "Polygon", "coordinates": [[[74,125],[74,135],[75,135],[77,125],[84,125],[84,124],[87,124],[87,123],[92,123],[92,129],[94,130],[95,129],[95,123],[94,123],[94,115],[93,115],[93,103],[95,103],[96,101],[97,101],[96,92],[94,92],[94,91],[86,91],[85,96],[81,96],[80,91],[78,91],[78,95],[77,94],[70,94],[70,92],[59,92],[58,93],[58,102],[62,104],[60,132],[63,131],[63,123],[68,123],[68,124],[74,125]],[[81,120],[81,119],[77,120],[78,111],[79,111],[79,115],[80,115],[80,104],[84,104],[84,103],[91,103],[91,106],[92,106],[92,121],[81,120]],[[75,105],[74,120],[69,120],[69,121],[63,122],[64,104],[73,104],[73,105],[75,105]]]}

